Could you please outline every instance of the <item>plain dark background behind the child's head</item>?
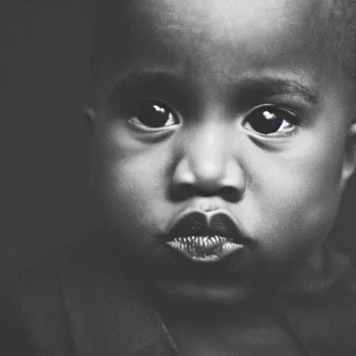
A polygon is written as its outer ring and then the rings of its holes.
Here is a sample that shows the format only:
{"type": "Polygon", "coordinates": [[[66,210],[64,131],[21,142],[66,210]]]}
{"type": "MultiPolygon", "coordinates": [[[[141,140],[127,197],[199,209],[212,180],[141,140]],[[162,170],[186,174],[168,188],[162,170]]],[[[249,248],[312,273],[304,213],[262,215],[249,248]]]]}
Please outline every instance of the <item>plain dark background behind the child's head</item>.
{"type": "MultiPolygon", "coordinates": [[[[83,118],[91,10],[92,0],[1,5],[3,277],[92,230],[83,118]]],[[[355,197],[353,179],[335,238],[356,256],[355,197]]]]}

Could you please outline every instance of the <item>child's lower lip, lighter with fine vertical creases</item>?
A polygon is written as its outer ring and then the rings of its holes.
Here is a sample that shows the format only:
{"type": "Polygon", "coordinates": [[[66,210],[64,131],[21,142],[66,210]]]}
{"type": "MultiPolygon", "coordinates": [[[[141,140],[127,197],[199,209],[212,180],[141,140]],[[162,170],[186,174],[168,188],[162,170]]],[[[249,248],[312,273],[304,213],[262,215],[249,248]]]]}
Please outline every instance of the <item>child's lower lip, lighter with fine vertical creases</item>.
{"type": "Polygon", "coordinates": [[[243,245],[223,236],[182,236],[168,241],[167,245],[194,262],[218,262],[242,250],[243,245]]]}

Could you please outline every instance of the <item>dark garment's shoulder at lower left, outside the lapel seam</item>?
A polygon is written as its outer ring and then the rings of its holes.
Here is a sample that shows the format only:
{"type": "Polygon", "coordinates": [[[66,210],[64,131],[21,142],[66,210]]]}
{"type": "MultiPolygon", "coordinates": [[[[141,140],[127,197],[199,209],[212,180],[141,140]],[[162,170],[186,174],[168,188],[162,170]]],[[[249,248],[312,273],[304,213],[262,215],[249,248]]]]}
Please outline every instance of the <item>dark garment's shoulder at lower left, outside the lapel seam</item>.
{"type": "Polygon", "coordinates": [[[79,285],[100,259],[105,259],[103,251],[83,241],[38,259],[3,283],[0,323],[6,330],[1,334],[6,355],[72,355],[63,284],[79,285]]]}

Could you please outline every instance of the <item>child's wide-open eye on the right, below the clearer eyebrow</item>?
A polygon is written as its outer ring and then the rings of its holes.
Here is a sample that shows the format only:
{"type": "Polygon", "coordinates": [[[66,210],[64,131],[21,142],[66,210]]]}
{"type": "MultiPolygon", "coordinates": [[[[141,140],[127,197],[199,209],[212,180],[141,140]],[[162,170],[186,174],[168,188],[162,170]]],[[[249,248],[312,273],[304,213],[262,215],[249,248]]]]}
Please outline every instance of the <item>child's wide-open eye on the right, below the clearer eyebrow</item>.
{"type": "Polygon", "coordinates": [[[296,129],[298,116],[289,109],[264,105],[254,108],[243,120],[247,129],[269,136],[283,136],[296,129]]]}

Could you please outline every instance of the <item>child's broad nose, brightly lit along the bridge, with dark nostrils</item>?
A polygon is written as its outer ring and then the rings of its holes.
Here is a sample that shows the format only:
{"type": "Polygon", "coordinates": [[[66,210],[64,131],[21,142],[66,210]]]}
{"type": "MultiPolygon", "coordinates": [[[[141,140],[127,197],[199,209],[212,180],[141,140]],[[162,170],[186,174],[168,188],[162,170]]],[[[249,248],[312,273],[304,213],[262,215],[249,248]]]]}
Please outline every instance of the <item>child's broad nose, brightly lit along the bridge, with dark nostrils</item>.
{"type": "Polygon", "coordinates": [[[231,130],[219,124],[189,131],[172,177],[174,196],[179,200],[197,195],[241,199],[245,175],[232,141],[231,130]]]}

